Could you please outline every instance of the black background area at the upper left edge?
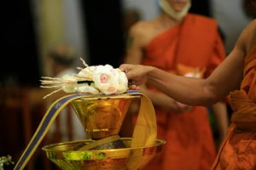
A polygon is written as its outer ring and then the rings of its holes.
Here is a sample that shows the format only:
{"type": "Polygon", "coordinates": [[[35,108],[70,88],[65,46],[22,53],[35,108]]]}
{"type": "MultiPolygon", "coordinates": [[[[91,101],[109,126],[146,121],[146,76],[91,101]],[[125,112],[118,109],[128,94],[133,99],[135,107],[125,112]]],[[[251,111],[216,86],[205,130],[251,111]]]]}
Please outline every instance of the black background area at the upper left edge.
{"type": "Polygon", "coordinates": [[[0,87],[38,84],[38,44],[29,0],[3,1],[0,87]]]}

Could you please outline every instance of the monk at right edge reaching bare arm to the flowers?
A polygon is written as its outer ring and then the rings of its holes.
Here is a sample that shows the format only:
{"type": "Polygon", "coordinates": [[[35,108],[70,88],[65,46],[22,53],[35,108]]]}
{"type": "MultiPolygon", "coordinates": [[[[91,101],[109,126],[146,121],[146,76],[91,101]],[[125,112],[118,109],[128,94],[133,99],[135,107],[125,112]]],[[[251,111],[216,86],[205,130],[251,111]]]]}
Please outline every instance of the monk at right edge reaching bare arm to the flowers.
{"type": "MultiPolygon", "coordinates": [[[[256,0],[252,1],[256,9],[256,0]]],[[[178,77],[146,65],[119,68],[131,80],[131,89],[147,82],[187,105],[212,105],[230,94],[234,113],[212,169],[256,169],[256,20],[244,28],[231,53],[206,79],[178,77]]]]}

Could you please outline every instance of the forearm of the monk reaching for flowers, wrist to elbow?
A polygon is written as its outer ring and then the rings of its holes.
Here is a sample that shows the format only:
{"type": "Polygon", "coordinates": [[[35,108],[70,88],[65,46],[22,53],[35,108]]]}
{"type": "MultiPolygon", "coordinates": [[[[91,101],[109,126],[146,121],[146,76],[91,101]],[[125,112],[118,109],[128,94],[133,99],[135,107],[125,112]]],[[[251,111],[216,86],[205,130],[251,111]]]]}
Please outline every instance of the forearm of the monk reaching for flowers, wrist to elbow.
{"type": "Polygon", "coordinates": [[[148,83],[172,99],[187,105],[211,105],[217,102],[211,86],[203,79],[171,75],[154,67],[148,70],[148,83]]]}

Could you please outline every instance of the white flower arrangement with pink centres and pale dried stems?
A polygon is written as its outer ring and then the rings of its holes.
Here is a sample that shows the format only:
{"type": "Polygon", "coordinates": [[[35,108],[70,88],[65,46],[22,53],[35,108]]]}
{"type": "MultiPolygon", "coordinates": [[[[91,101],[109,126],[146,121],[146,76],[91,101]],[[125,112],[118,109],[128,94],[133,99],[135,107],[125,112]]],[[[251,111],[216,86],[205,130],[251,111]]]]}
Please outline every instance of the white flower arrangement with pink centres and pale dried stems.
{"type": "Polygon", "coordinates": [[[86,94],[123,94],[128,90],[128,79],[125,72],[112,65],[89,66],[81,59],[84,69],[73,76],[65,75],[58,77],[42,77],[41,88],[58,88],[54,92],[44,96],[44,99],[51,94],[63,90],[66,93],[86,94]]]}

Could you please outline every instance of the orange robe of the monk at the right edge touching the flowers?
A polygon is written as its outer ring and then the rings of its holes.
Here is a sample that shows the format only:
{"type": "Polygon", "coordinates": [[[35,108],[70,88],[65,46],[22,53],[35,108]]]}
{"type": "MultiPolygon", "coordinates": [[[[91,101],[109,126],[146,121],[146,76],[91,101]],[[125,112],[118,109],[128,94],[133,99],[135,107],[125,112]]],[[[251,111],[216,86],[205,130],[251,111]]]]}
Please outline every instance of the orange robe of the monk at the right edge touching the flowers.
{"type": "Polygon", "coordinates": [[[247,55],[241,90],[230,93],[231,125],[212,169],[256,169],[256,47],[247,55]]]}

